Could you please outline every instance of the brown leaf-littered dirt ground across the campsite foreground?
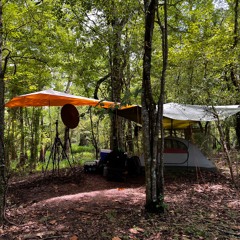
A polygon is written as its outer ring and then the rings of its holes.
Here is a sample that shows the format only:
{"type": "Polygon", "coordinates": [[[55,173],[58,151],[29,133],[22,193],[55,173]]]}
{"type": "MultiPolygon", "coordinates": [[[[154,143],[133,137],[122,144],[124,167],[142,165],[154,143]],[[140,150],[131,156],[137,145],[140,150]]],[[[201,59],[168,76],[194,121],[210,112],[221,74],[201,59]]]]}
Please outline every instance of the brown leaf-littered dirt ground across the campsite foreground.
{"type": "Polygon", "coordinates": [[[165,213],[144,211],[144,176],[78,169],[12,179],[0,239],[240,239],[239,191],[220,172],[166,171],[165,213]]]}

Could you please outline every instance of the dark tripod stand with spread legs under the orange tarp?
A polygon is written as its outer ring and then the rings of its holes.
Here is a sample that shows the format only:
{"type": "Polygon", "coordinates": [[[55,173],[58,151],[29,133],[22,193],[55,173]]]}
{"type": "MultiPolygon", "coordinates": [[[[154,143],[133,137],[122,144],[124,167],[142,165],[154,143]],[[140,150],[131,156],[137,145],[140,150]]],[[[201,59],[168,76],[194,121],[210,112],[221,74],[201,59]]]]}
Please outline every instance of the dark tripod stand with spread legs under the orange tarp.
{"type": "Polygon", "coordinates": [[[48,162],[47,162],[45,173],[47,171],[47,168],[48,168],[50,160],[52,160],[52,166],[53,166],[52,172],[54,174],[57,171],[57,173],[59,174],[59,163],[60,163],[60,160],[67,159],[69,166],[71,168],[72,168],[72,166],[71,166],[71,163],[69,161],[68,155],[66,154],[66,151],[64,150],[64,147],[63,147],[63,144],[61,142],[61,139],[59,138],[58,120],[56,120],[55,124],[56,124],[56,136],[55,136],[55,140],[54,140],[54,143],[52,145],[52,148],[51,148],[51,153],[49,155],[49,159],[48,159],[48,162]]]}

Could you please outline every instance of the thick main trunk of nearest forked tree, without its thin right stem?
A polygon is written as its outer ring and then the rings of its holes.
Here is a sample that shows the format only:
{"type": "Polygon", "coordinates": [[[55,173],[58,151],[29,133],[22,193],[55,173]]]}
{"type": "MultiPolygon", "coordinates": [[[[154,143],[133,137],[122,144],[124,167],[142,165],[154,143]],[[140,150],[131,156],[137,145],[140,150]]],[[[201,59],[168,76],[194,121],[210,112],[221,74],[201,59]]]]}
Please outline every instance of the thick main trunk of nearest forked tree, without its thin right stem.
{"type": "Polygon", "coordinates": [[[157,192],[157,145],[159,129],[157,127],[156,103],[151,88],[152,39],[157,9],[157,0],[145,1],[145,37],[142,81],[142,126],[143,149],[146,176],[146,210],[158,210],[157,192]]]}

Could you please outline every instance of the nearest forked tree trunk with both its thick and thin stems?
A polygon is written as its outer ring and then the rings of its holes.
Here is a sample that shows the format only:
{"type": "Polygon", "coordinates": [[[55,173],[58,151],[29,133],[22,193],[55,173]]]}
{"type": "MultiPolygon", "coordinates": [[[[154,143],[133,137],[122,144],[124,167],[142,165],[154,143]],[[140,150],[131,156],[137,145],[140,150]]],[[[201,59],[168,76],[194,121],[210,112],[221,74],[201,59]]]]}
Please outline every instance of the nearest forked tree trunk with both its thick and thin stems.
{"type": "MultiPolygon", "coordinates": [[[[162,30],[162,75],[160,79],[160,96],[158,104],[153,99],[151,88],[151,55],[157,0],[145,1],[145,39],[143,56],[143,84],[142,84],[142,126],[143,150],[146,176],[146,210],[161,213],[164,211],[164,178],[163,178],[163,103],[165,74],[167,68],[167,5],[164,1],[164,25],[162,30]],[[162,137],[159,145],[159,132],[162,137]]],[[[160,23],[160,18],[159,24],[160,23]]]]}

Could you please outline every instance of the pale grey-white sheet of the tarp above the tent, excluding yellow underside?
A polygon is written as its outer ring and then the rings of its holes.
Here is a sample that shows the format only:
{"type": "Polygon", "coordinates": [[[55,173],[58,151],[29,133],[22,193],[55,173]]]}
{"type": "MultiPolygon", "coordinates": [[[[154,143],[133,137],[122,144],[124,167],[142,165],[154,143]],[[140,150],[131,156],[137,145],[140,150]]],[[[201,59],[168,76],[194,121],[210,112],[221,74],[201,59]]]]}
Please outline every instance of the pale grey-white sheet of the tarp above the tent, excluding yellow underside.
{"type": "Polygon", "coordinates": [[[178,103],[166,103],[163,107],[163,116],[186,121],[216,121],[224,120],[240,112],[239,105],[204,106],[178,103]]]}

